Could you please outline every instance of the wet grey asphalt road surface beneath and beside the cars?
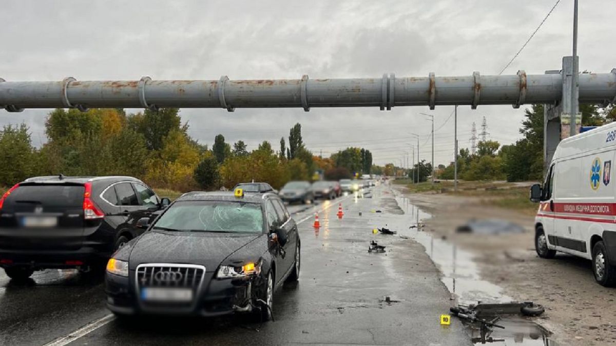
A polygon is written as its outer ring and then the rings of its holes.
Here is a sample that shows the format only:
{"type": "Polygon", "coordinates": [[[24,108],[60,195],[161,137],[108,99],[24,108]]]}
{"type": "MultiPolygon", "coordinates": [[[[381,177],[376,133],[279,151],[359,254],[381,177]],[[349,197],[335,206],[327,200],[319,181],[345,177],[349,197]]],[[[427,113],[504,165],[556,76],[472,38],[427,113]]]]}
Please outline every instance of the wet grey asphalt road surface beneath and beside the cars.
{"type": "MultiPolygon", "coordinates": [[[[423,246],[398,235],[372,234],[386,224],[408,229],[415,220],[398,206],[389,187],[371,190],[370,198],[289,207],[301,222],[302,267],[299,283],[275,294],[275,322],[259,326],[241,316],[107,318],[69,339],[70,345],[470,344],[458,321],[439,325],[450,294],[423,246]],[[338,203],[342,219],[336,217],[338,203]],[[315,230],[317,211],[321,228],[315,230]],[[387,252],[368,253],[370,240],[387,246],[387,252]],[[384,296],[397,302],[388,304],[384,296]]],[[[48,270],[17,285],[0,270],[0,345],[43,345],[68,336],[109,315],[104,302],[101,278],[48,270]]]]}

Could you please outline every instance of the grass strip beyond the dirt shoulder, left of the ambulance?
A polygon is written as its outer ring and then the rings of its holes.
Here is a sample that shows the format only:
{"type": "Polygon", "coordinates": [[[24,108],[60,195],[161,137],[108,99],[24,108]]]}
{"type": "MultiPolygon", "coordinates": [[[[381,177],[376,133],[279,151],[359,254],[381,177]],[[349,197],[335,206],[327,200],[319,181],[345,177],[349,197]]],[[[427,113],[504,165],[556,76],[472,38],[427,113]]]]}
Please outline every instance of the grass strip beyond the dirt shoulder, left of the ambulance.
{"type": "MultiPolygon", "coordinates": [[[[394,183],[395,180],[394,180],[394,183]]],[[[458,192],[453,191],[453,182],[422,182],[413,184],[408,180],[411,193],[445,193],[447,195],[476,198],[480,204],[513,209],[527,215],[537,213],[537,204],[529,200],[529,186],[508,182],[458,181],[458,192]]]]}

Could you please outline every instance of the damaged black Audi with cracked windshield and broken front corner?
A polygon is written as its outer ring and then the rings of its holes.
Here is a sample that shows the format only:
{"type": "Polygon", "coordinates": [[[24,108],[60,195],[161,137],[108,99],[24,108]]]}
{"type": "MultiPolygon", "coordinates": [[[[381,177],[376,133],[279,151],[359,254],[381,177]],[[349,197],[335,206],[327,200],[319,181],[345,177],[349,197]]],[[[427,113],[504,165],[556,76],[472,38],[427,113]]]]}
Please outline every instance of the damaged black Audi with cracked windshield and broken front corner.
{"type": "Polygon", "coordinates": [[[299,278],[298,227],[273,193],[193,192],[176,199],[107,265],[118,316],[271,316],[274,293],[299,278]]]}

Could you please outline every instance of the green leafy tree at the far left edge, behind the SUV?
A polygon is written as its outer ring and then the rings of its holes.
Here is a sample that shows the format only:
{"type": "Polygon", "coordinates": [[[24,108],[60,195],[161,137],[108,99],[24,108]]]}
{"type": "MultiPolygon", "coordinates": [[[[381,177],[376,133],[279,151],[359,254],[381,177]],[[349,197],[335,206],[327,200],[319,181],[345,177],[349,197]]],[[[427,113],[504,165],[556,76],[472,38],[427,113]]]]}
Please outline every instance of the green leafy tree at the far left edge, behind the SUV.
{"type": "Polygon", "coordinates": [[[0,131],[0,186],[12,186],[34,171],[34,148],[28,126],[7,125],[0,131]]]}

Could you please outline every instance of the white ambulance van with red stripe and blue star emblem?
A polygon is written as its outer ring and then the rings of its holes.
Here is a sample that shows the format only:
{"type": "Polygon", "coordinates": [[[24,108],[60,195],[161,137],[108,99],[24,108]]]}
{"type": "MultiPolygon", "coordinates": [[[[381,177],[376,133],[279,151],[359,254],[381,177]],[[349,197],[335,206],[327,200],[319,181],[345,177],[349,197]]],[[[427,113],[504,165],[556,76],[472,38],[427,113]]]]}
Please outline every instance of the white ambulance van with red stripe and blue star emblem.
{"type": "Polygon", "coordinates": [[[530,189],[540,202],[535,217],[535,249],[550,259],[556,251],[593,260],[594,278],[616,284],[616,123],[559,143],[543,188],[530,189]]]}

